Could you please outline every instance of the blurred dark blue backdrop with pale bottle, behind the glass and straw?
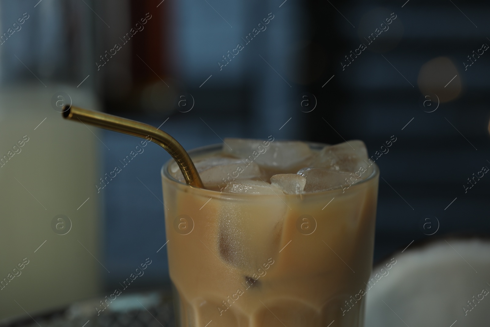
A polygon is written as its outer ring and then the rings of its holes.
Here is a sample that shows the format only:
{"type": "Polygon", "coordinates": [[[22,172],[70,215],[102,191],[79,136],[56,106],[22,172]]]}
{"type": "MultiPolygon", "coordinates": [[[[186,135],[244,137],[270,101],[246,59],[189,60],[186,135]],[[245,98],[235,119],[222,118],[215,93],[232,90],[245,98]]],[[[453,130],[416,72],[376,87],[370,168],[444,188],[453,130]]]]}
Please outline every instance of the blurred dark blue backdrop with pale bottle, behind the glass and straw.
{"type": "Polygon", "coordinates": [[[488,235],[490,177],[471,178],[490,167],[489,4],[405,1],[0,0],[0,278],[30,260],[0,319],[106,294],[148,257],[133,290],[169,285],[170,156],[149,144],[98,190],[140,140],[64,122],[65,103],[160,126],[186,150],[364,140],[382,177],[375,262],[488,235]]]}

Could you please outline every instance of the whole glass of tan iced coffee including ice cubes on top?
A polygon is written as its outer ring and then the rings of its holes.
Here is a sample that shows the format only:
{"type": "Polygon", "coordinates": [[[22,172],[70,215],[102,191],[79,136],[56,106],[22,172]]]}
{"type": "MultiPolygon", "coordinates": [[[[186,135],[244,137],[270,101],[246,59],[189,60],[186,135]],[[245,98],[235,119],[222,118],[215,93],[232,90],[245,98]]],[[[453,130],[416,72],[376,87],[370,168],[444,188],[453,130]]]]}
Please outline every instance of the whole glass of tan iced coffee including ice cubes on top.
{"type": "Polygon", "coordinates": [[[206,189],[162,168],[178,327],[362,326],[379,176],[363,142],[189,154],[206,189]]]}

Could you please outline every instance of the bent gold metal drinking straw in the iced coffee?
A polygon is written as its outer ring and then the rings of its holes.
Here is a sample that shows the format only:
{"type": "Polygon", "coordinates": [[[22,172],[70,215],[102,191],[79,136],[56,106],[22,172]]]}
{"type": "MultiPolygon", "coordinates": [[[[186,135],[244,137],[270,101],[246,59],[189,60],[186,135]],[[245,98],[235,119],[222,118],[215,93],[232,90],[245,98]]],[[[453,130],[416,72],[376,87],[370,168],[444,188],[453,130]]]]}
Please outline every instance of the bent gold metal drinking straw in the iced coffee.
{"type": "Polygon", "coordinates": [[[204,188],[201,178],[197,173],[196,166],[194,166],[189,154],[172,136],[163,130],[130,119],[74,106],[65,106],[61,114],[63,115],[63,118],[66,119],[74,121],[78,120],[81,123],[87,123],[116,132],[146,139],[149,136],[151,138],[150,141],[164,148],[177,162],[187,184],[197,188],[204,188]]]}

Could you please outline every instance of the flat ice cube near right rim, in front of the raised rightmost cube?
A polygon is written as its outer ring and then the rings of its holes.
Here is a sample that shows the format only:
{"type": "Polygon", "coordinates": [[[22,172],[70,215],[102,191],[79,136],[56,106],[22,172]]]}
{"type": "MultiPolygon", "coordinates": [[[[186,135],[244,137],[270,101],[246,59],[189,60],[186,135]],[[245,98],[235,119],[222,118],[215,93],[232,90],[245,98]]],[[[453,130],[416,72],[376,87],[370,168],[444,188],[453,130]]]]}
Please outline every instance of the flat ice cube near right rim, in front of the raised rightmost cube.
{"type": "Polygon", "coordinates": [[[349,187],[362,180],[351,173],[325,168],[303,168],[297,174],[306,177],[305,193],[349,187]]]}

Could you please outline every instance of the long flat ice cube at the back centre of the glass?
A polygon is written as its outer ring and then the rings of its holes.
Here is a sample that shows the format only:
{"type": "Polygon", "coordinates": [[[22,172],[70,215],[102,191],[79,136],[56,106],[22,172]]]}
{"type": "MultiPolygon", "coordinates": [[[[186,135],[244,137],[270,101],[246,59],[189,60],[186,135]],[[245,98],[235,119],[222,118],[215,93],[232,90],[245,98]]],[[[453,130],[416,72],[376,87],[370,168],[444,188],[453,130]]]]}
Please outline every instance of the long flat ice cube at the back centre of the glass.
{"type": "Polygon", "coordinates": [[[225,138],[223,152],[260,166],[287,169],[312,155],[310,147],[300,141],[262,141],[225,138]]]}

